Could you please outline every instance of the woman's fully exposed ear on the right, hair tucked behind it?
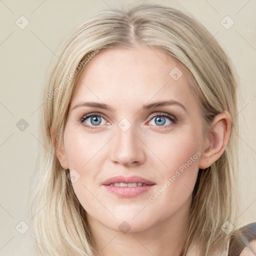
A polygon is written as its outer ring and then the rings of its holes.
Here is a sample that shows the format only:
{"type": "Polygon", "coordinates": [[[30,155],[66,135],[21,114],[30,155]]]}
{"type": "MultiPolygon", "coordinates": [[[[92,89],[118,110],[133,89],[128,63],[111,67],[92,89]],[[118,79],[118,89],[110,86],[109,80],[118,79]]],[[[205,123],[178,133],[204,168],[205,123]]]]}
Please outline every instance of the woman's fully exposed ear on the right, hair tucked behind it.
{"type": "Polygon", "coordinates": [[[204,150],[199,161],[199,168],[205,169],[216,161],[224,152],[231,129],[231,115],[228,111],[217,114],[211,123],[210,137],[204,139],[204,150]]]}

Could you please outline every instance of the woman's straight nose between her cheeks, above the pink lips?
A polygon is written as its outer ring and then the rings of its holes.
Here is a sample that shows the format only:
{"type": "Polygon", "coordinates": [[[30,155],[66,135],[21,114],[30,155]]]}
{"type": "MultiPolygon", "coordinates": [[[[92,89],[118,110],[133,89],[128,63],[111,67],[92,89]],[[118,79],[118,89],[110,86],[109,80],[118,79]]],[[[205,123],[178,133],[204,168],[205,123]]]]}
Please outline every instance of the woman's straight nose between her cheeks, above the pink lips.
{"type": "Polygon", "coordinates": [[[141,138],[135,134],[133,126],[126,131],[117,126],[111,147],[110,160],[115,164],[131,167],[145,160],[143,143],[141,138]]]}

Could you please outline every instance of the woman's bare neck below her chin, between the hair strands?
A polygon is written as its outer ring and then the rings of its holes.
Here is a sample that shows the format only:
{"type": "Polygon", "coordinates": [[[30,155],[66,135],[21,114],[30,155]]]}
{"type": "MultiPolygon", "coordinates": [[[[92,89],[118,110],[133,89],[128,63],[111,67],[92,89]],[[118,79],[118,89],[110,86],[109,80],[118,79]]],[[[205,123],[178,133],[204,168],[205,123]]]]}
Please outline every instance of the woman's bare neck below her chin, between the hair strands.
{"type": "Polygon", "coordinates": [[[122,233],[109,229],[86,213],[97,255],[180,256],[186,237],[190,201],[189,198],[168,218],[157,220],[149,228],[137,232],[122,233]]]}

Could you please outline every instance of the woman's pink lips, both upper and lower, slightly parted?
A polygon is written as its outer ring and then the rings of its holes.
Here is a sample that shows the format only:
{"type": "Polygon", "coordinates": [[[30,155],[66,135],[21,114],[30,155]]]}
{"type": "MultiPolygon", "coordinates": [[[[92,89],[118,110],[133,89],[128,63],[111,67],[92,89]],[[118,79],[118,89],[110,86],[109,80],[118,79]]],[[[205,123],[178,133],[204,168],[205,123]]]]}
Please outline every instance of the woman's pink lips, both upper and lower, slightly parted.
{"type": "Polygon", "coordinates": [[[154,186],[155,183],[152,181],[139,177],[139,176],[114,176],[107,180],[105,180],[102,185],[105,187],[105,189],[114,194],[118,197],[134,197],[137,195],[140,195],[144,192],[147,192],[149,189],[151,189],[154,186]],[[142,186],[134,186],[134,187],[126,187],[126,186],[114,186],[109,185],[113,183],[142,183],[142,186]]]}

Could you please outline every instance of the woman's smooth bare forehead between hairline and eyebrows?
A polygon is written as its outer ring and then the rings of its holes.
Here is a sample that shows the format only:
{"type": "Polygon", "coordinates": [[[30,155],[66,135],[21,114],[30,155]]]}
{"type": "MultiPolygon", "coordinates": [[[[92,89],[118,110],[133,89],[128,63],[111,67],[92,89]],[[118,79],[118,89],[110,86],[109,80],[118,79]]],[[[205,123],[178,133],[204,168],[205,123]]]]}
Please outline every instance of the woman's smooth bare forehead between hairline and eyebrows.
{"type": "Polygon", "coordinates": [[[163,99],[184,104],[195,101],[184,68],[155,47],[136,46],[97,53],[77,81],[71,106],[81,100],[95,100],[114,109],[163,99]]]}

